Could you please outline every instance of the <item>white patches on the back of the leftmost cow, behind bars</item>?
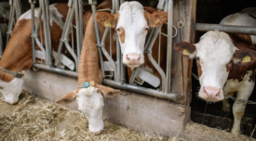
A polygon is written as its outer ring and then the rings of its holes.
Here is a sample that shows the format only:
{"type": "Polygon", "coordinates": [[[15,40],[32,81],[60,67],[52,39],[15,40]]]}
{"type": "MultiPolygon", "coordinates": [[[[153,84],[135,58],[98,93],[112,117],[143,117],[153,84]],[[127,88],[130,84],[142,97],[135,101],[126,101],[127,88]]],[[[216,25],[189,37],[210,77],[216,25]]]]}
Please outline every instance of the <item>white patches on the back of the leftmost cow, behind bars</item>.
{"type": "MultiPolygon", "coordinates": [[[[63,18],[63,15],[61,15],[61,13],[58,11],[58,9],[55,5],[56,4],[49,6],[50,25],[52,26],[52,21],[54,21],[61,27],[61,30],[62,30],[64,27],[64,22],[61,19],[61,18],[63,18]]],[[[34,17],[37,18],[38,14],[39,14],[39,8],[34,8],[34,17]]],[[[43,19],[43,14],[42,14],[41,18],[43,19]]],[[[18,20],[17,25],[19,25],[19,21],[21,19],[31,19],[31,10],[28,10],[27,12],[25,12],[24,14],[22,14],[20,16],[20,19],[18,20]]]]}

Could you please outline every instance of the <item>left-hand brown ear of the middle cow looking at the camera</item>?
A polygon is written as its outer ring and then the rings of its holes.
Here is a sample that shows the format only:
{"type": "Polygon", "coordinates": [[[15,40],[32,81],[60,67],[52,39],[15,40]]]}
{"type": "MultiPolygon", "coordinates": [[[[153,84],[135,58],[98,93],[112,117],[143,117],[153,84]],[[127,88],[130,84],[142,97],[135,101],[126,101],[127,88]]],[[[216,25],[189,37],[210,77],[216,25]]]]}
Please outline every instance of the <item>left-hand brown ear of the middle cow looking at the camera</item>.
{"type": "Polygon", "coordinates": [[[114,15],[111,15],[108,12],[99,12],[96,13],[95,17],[97,22],[101,24],[102,27],[115,29],[119,18],[119,13],[117,12],[114,15]]]}

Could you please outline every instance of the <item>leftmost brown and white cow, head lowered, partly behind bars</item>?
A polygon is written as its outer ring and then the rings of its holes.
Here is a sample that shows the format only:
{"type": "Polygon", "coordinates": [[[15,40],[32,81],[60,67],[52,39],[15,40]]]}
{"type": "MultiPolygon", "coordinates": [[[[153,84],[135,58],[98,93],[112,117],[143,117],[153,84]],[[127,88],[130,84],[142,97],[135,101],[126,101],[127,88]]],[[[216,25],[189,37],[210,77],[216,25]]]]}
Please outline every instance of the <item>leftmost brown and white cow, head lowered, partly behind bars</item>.
{"type": "MultiPolygon", "coordinates": [[[[39,9],[35,8],[34,17],[37,17],[38,13],[39,9]]],[[[55,51],[58,50],[67,13],[67,4],[54,4],[49,6],[51,44],[55,51]]],[[[36,21],[37,19],[35,18],[35,24],[36,21]]],[[[41,25],[43,25],[43,20],[41,20],[41,22],[41,25]]],[[[12,72],[27,71],[32,67],[31,26],[31,10],[29,10],[22,14],[17,20],[11,38],[0,60],[0,67],[12,72]]],[[[44,31],[43,26],[42,31],[44,31]]],[[[38,32],[38,36],[40,39],[40,32],[38,32]]],[[[42,32],[42,36],[44,40],[44,32],[42,32]]],[[[39,47],[36,46],[36,49],[39,50],[39,47]]],[[[7,103],[17,103],[22,90],[22,84],[22,78],[14,77],[12,74],[0,70],[0,91],[5,96],[7,103]]]]}

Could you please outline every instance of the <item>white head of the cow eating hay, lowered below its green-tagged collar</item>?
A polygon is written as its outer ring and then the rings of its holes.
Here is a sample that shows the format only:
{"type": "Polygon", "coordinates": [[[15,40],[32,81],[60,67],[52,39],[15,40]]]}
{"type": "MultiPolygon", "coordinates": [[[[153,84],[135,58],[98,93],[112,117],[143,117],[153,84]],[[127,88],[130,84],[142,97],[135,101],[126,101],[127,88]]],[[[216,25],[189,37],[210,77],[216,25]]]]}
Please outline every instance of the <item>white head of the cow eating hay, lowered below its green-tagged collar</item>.
{"type": "Polygon", "coordinates": [[[57,100],[59,104],[69,104],[76,99],[78,109],[82,111],[88,119],[89,131],[93,135],[100,135],[104,123],[102,120],[102,111],[104,106],[103,97],[112,97],[120,94],[120,90],[114,90],[110,87],[97,84],[96,86],[90,86],[88,88],[81,88],[74,90],[61,99],[57,100]]]}

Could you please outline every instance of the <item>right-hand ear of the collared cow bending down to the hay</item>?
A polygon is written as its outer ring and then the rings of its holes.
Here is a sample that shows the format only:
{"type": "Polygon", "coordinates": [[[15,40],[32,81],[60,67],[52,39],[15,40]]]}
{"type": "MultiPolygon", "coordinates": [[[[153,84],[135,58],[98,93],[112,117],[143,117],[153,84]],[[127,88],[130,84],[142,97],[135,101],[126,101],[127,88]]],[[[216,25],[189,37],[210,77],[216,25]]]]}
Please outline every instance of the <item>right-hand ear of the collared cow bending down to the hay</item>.
{"type": "Polygon", "coordinates": [[[98,88],[98,92],[104,97],[113,97],[120,94],[120,90],[115,90],[111,87],[104,86],[101,84],[96,84],[94,87],[98,88]]]}

